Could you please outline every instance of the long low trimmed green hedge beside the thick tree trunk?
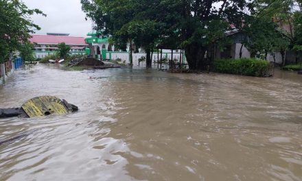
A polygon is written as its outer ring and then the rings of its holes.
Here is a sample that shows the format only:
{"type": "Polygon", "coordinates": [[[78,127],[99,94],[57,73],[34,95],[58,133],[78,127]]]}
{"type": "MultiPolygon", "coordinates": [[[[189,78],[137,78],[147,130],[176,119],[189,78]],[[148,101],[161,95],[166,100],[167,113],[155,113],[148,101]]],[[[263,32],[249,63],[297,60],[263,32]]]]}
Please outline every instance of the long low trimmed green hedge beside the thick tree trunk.
{"type": "Polygon", "coordinates": [[[213,71],[237,75],[265,77],[269,75],[271,68],[268,61],[254,58],[215,60],[213,62],[213,71]]]}

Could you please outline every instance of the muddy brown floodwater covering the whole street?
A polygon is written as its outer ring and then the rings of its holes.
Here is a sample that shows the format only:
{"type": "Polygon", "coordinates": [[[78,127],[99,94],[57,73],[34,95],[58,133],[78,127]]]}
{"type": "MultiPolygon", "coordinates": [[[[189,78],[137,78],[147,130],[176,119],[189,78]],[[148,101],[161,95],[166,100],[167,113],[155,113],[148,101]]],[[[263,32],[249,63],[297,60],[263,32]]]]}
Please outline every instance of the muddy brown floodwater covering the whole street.
{"type": "Polygon", "coordinates": [[[1,108],[54,95],[79,112],[0,120],[0,180],[302,180],[302,76],[37,65],[1,108]]]}

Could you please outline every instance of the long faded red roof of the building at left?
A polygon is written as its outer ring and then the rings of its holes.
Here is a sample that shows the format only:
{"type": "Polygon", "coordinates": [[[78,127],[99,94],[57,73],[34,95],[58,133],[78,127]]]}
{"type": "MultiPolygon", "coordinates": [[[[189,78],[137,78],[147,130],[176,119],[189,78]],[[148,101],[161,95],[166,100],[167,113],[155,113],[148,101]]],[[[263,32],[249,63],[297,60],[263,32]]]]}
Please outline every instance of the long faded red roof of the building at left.
{"type": "Polygon", "coordinates": [[[38,43],[38,44],[66,43],[67,45],[86,45],[84,37],[75,37],[75,36],[54,36],[54,35],[33,34],[32,38],[30,38],[30,42],[38,43]]]}

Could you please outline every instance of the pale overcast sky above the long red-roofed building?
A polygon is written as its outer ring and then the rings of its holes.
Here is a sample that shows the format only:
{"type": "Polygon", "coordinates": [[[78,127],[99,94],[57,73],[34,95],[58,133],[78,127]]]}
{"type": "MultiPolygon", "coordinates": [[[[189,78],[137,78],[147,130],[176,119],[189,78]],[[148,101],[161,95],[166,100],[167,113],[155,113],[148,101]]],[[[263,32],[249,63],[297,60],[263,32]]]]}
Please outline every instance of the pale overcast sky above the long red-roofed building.
{"type": "Polygon", "coordinates": [[[67,33],[86,36],[91,31],[91,21],[85,20],[80,0],[22,0],[28,8],[38,8],[44,14],[32,16],[32,21],[41,27],[36,34],[67,33]]]}

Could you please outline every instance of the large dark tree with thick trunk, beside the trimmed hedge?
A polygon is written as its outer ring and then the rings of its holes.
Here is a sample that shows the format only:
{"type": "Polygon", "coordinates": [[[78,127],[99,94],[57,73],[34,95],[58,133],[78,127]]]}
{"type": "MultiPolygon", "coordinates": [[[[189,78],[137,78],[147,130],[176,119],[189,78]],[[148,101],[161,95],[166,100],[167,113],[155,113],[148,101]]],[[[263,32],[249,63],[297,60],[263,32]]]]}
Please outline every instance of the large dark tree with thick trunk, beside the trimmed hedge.
{"type": "Polygon", "coordinates": [[[181,36],[189,69],[206,69],[205,53],[213,44],[223,44],[230,25],[240,27],[246,1],[181,1],[181,36]],[[216,3],[221,3],[216,8],[216,3]]]}

